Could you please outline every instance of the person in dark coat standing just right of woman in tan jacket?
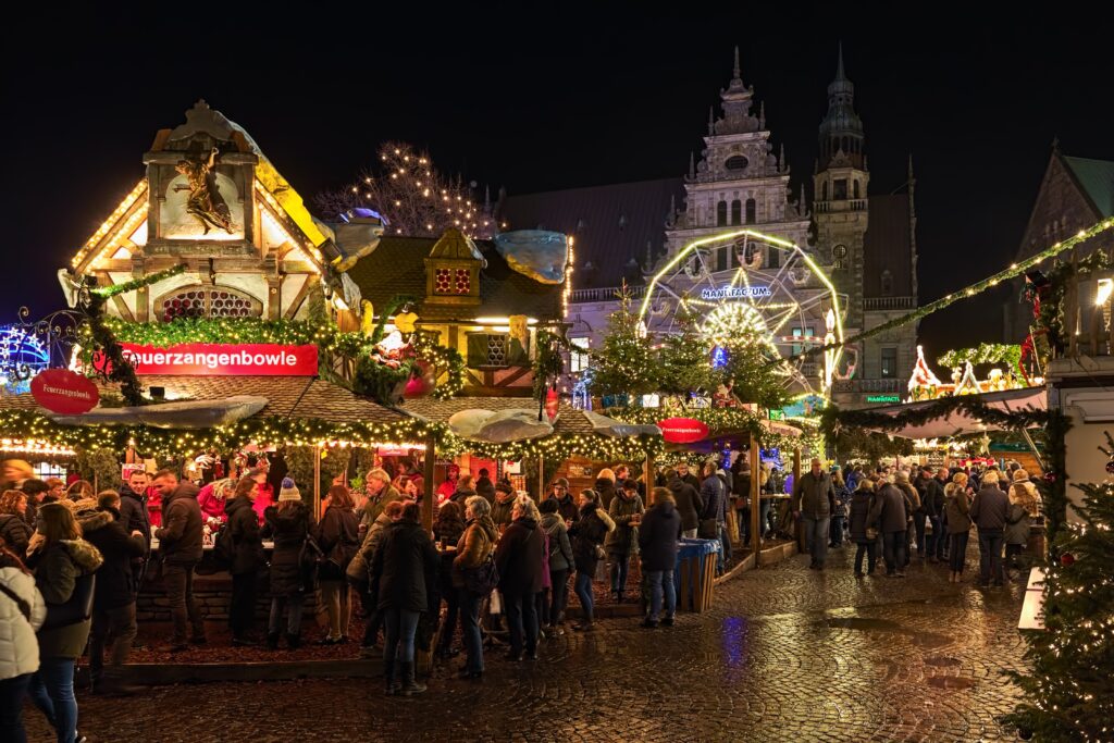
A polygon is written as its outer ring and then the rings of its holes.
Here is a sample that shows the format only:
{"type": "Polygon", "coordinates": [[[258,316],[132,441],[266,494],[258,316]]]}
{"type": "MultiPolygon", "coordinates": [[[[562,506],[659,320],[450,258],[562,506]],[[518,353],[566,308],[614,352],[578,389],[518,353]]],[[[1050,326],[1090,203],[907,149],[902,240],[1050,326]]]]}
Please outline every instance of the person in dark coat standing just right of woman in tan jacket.
{"type": "Polygon", "coordinates": [[[495,550],[499,590],[502,592],[507,623],[510,625],[507,659],[521,661],[525,644],[526,657],[537,661],[537,595],[541,593],[546,538],[538,528],[541,520],[538,507],[528,497],[519,496],[515,500],[510,518],[510,526],[499,537],[499,546],[495,550]]]}

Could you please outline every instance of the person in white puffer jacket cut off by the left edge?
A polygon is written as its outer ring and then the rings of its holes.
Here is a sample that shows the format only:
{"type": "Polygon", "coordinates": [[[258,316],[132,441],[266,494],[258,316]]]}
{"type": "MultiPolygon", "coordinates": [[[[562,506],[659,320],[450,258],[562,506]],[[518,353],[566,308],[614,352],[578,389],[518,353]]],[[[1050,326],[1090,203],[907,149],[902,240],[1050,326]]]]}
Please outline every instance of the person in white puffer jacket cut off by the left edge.
{"type": "Polygon", "coordinates": [[[35,633],[46,618],[35,577],[0,538],[0,741],[27,743],[23,697],[39,669],[35,633]]]}

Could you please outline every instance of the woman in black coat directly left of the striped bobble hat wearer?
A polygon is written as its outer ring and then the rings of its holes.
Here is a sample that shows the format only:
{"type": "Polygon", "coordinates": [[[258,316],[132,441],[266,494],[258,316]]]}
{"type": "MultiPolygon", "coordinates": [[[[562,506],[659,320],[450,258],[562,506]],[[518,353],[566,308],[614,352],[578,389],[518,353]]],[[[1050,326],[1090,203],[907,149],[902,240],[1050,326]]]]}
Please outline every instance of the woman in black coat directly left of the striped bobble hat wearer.
{"type": "Polygon", "coordinates": [[[266,563],[263,538],[253,504],[258,495],[258,483],[242,477],[236,483],[235,497],[224,506],[232,532],[232,600],[228,604],[228,626],[233,645],[254,645],[247,634],[255,623],[255,584],[260,568],[266,563]]]}

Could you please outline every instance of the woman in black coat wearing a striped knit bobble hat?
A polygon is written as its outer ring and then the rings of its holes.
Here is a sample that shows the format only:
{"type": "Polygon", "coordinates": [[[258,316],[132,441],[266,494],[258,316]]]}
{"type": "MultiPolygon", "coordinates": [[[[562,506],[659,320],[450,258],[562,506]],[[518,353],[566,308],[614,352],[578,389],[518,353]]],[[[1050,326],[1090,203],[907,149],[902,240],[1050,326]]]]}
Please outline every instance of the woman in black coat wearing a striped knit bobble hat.
{"type": "Polygon", "coordinates": [[[278,648],[282,610],[286,607],[286,646],[296,651],[302,644],[302,609],[305,595],[313,590],[311,568],[302,561],[305,538],[310,534],[310,508],[291,478],[284,478],[278,505],[263,511],[262,536],[275,542],[271,555],[271,616],[267,619],[267,648],[278,648]]]}

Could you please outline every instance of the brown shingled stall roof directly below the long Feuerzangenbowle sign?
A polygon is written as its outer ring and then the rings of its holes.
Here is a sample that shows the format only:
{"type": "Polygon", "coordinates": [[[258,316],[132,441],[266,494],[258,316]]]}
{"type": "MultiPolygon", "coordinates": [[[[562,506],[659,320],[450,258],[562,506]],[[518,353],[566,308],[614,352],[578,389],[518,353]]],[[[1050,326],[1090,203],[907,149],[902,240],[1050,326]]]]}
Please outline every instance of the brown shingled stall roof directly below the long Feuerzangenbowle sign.
{"type": "MultiPolygon", "coordinates": [[[[167,398],[225,400],[234,395],[256,395],[267,399],[266,407],[254,418],[319,418],[333,423],[397,423],[410,419],[404,412],[384,408],[356,397],[332,382],[313,377],[173,377],[152,374],[139,378],[144,388],[162,387],[167,398]]],[[[116,393],[110,385],[100,387],[101,394],[116,393]]],[[[39,409],[30,393],[0,399],[0,409],[39,409]]]]}

